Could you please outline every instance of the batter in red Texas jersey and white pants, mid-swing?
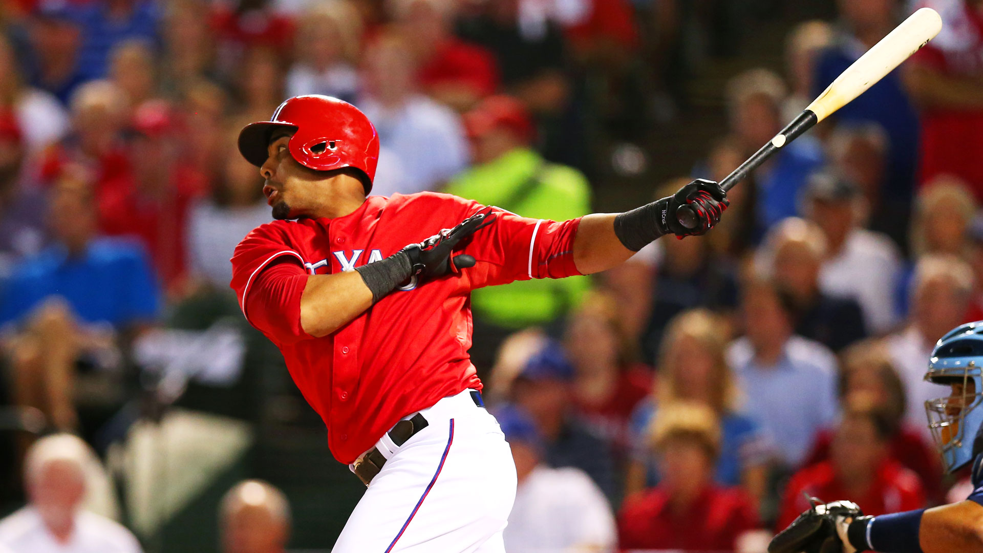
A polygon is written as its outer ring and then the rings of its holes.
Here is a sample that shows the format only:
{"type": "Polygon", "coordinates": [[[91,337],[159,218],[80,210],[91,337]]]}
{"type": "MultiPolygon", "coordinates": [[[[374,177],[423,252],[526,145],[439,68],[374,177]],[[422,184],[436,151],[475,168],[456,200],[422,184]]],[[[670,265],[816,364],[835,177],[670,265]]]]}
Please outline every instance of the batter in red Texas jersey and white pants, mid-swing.
{"type": "Polygon", "coordinates": [[[340,552],[503,552],[516,473],[468,359],[471,290],[604,271],[662,235],[705,233],[727,206],[705,180],[565,221],[431,192],[367,197],[376,129],[320,95],[248,125],[239,150],[277,220],[236,247],[232,288],[324,420],[335,459],[369,486],[340,552]],[[684,204],[701,215],[695,229],[674,217],[684,204]]]}

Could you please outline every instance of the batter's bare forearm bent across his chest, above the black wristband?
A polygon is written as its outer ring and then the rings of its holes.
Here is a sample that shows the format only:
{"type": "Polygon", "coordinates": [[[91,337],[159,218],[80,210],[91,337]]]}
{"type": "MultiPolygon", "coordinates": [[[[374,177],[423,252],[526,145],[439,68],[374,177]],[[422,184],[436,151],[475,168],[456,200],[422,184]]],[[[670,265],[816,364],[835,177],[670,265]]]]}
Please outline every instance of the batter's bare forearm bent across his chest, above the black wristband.
{"type": "Polygon", "coordinates": [[[301,328],[327,336],[372,307],[373,293],[358,273],[308,276],[301,296],[301,328]]]}

